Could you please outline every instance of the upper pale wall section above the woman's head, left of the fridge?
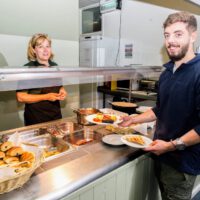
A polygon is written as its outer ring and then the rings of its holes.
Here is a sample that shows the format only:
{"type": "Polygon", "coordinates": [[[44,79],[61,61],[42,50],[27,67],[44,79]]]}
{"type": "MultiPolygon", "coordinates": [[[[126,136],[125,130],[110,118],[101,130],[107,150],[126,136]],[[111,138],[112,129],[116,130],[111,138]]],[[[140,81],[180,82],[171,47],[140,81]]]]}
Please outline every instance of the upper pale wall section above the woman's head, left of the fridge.
{"type": "Polygon", "coordinates": [[[78,0],[0,0],[0,33],[78,41],[78,0]]]}

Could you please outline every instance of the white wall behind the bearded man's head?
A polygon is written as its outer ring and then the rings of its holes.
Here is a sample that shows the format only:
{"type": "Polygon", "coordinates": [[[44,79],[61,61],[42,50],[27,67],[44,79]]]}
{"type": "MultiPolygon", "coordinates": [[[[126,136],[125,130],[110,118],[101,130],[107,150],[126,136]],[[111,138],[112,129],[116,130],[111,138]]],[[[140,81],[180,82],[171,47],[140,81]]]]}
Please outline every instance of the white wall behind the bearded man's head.
{"type": "MultiPolygon", "coordinates": [[[[162,65],[168,61],[163,46],[163,22],[177,10],[125,0],[122,9],[122,39],[133,41],[132,63],[162,65]]],[[[198,20],[200,45],[200,16],[198,20]]],[[[122,46],[122,51],[124,50],[122,46]]],[[[121,55],[124,55],[121,53],[121,55]]],[[[121,60],[127,62],[123,57],[121,60]]]]}

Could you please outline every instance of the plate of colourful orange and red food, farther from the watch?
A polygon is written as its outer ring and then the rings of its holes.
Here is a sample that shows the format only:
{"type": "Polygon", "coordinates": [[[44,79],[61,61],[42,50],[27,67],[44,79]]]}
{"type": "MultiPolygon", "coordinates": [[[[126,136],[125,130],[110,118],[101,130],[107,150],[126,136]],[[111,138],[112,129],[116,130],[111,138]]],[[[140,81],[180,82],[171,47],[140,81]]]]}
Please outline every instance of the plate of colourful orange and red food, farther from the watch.
{"type": "Polygon", "coordinates": [[[122,119],[120,116],[114,115],[114,114],[103,114],[103,113],[97,113],[93,115],[88,115],[85,117],[85,119],[88,122],[95,123],[95,124],[118,124],[122,122],[122,119]]]}

